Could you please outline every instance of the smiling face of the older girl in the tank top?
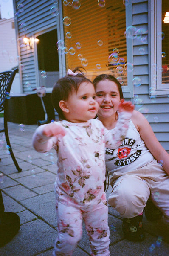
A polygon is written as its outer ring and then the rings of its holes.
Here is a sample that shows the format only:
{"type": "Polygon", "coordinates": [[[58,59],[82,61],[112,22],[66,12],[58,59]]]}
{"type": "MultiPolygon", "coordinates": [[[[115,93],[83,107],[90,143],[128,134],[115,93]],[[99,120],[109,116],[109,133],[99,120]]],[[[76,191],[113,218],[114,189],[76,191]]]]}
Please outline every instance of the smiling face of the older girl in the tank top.
{"type": "Polygon", "coordinates": [[[99,118],[115,116],[120,103],[120,93],[114,81],[101,80],[96,84],[96,101],[99,104],[97,113],[99,118]]]}

